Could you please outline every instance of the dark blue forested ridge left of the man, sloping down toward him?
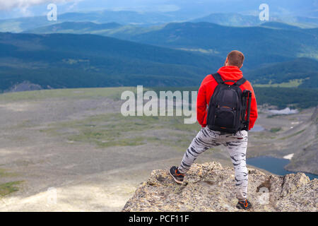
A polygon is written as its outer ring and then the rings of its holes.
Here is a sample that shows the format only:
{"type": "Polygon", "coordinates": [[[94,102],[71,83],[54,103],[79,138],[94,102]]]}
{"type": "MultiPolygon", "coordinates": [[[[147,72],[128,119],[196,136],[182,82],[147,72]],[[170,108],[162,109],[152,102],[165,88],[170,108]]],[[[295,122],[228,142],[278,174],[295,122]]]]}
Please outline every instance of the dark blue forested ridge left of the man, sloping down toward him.
{"type": "Polygon", "coordinates": [[[0,33],[0,89],[194,85],[223,59],[98,35],[0,33]]]}

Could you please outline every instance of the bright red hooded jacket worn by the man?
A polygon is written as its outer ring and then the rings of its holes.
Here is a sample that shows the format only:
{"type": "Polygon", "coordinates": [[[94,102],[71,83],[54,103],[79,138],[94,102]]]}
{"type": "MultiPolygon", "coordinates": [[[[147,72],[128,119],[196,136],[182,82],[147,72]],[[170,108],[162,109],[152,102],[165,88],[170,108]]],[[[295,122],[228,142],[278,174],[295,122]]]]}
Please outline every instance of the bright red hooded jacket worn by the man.
{"type": "MultiPolygon", "coordinates": [[[[237,66],[223,66],[218,70],[218,73],[224,81],[237,81],[243,77],[242,71],[237,66]]],[[[208,113],[207,107],[210,103],[210,99],[213,95],[216,85],[218,85],[218,83],[213,78],[213,76],[208,75],[206,76],[206,78],[204,78],[204,81],[202,81],[201,86],[199,88],[199,93],[196,100],[196,119],[202,127],[206,126],[206,114],[208,113]]],[[[257,120],[257,101],[255,98],[254,90],[249,81],[241,85],[240,88],[241,90],[252,91],[251,114],[249,117],[249,129],[252,129],[255,124],[255,121],[257,120]]]]}

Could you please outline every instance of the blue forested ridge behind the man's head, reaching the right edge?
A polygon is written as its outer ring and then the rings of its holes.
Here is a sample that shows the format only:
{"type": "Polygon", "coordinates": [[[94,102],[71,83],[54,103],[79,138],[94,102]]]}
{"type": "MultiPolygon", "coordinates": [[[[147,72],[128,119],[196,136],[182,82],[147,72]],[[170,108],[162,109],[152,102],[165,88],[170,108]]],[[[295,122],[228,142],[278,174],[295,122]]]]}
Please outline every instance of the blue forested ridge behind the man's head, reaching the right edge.
{"type": "Polygon", "coordinates": [[[317,29],[233,28],[213,23],[170,23],[160,30],[132,35],[130,40],[179,49],[204,49],[226,56],[245,53],[245,69],[296,57],[318,59],[317,29]]]}

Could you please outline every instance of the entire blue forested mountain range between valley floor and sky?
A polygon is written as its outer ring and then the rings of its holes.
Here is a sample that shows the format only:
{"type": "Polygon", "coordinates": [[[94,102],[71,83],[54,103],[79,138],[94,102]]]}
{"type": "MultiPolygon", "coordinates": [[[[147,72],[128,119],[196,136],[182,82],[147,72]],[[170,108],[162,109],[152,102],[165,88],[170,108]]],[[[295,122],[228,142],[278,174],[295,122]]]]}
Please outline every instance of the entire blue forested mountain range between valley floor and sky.
{"type": "Polygon", "coordinates": [[[0,33],[0,89],[25,81],[43,88],[199,85],[232,49],[245,54],[242,71],[256,85],[318,87],[318,28],[238,13],[164,23],[174,19],[167,15],[100,11],[64,13],[53,24],[45,17],[1,20],[0,29],[24,32],[0,33]]]}

